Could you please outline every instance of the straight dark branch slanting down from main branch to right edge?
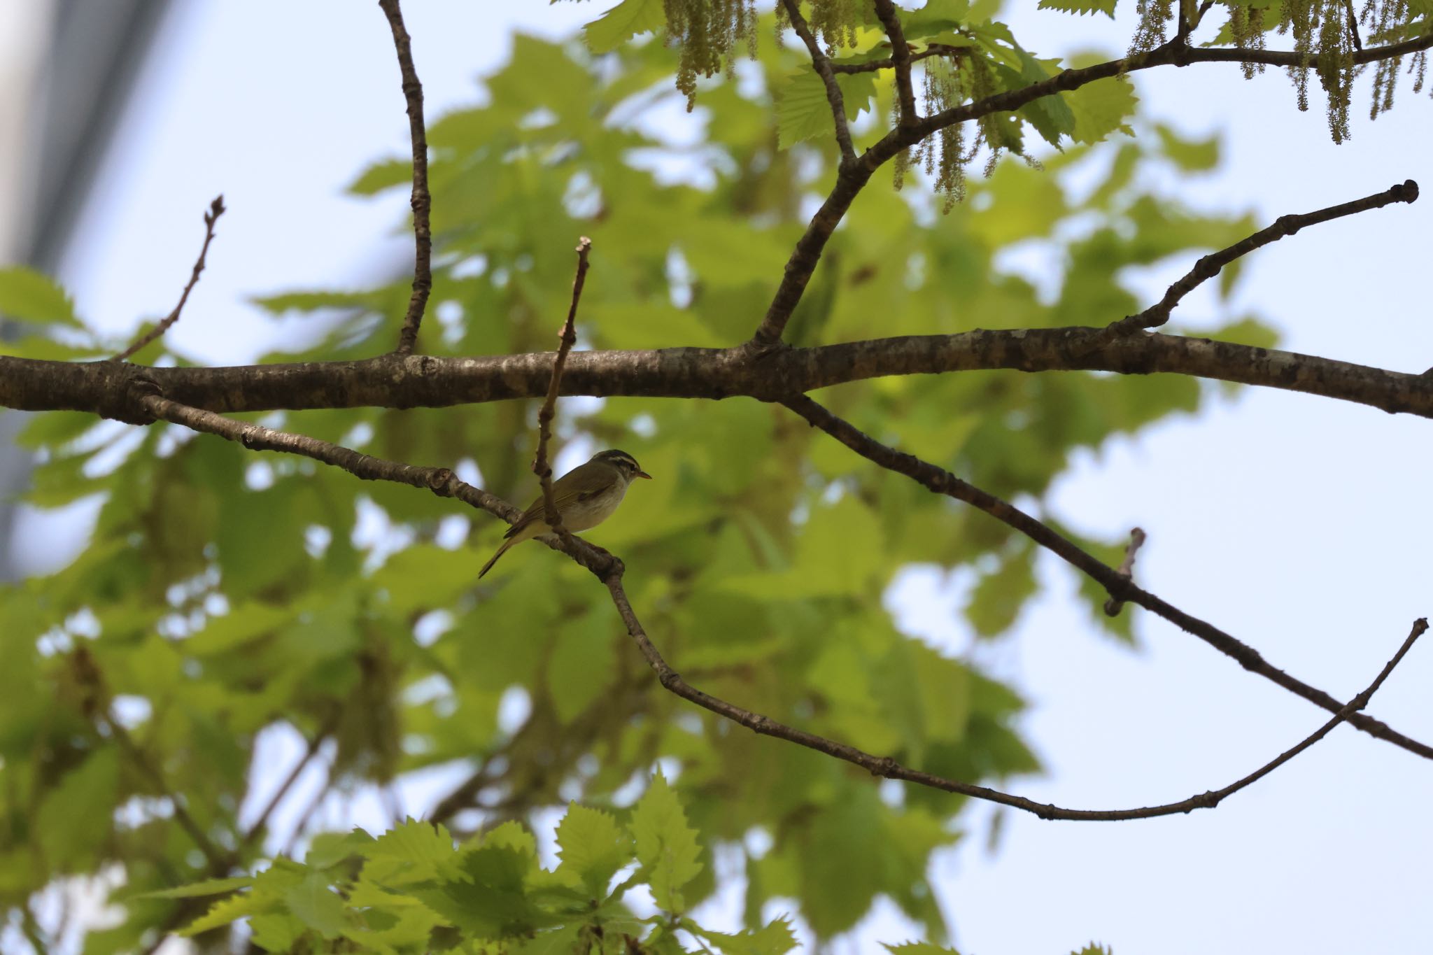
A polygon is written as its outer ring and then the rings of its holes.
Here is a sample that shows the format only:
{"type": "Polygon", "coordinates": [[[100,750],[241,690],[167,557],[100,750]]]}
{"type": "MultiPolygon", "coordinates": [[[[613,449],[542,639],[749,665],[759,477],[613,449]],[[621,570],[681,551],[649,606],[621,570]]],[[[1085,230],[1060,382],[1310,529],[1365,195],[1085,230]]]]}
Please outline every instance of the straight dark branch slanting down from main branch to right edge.
{"type": "MultiPolygon", "coordinates": [[[[1245,670],[1260,674],[1274,684],[1284,687],[1290,693],[1308,700],[1314,706],[1320,706],[1330,713],[1338,712],[1343,706],[1341,700],[1337,700],[1323,690],[1308,686],[1303,680],[1298,680],[1273,666],[1258,653],[1258,650],[1247,643],[1237,640],[1214,624],[1187,614],[1152,593],[1136,587],[1129,577],[1122,576],[1113,567],[1103,564],[1072,540],[1030,517],[1013,504],[1009,504],[996,495],[974,487],[973,484],[962,481],[944,468],[939,468],[929,461],[921,461],[914,455],[881,444],[848,421],[835,417],[805,395],[787,398],[782,404],[805,418],[813,427],[821,428],[833,438],[874,464],[878,464],[888,471],[904,474],[929,491],[953,497],[957,501],[964,501],[966,504],[984,511],[997,521],[1013,527],[1040,547],[1045,547],[1073,566],[1076,570],[1093,578],[1101,587],[1108,590],[1109,596],[1115,600],[1138,604],[1145,610],[1164,617],[1181,630],[1204,640],[1219,653],[1232,657],[1245,670]]],[[[1410,739],[1371,716],[1358,713],[1351,716],[1350,722],[1370,736],[1387,740],[1394,746],[1401,746],[1410,753],[1417,753],[1424,759],[1433,759],[1433,746],[1410,739]]]]}

